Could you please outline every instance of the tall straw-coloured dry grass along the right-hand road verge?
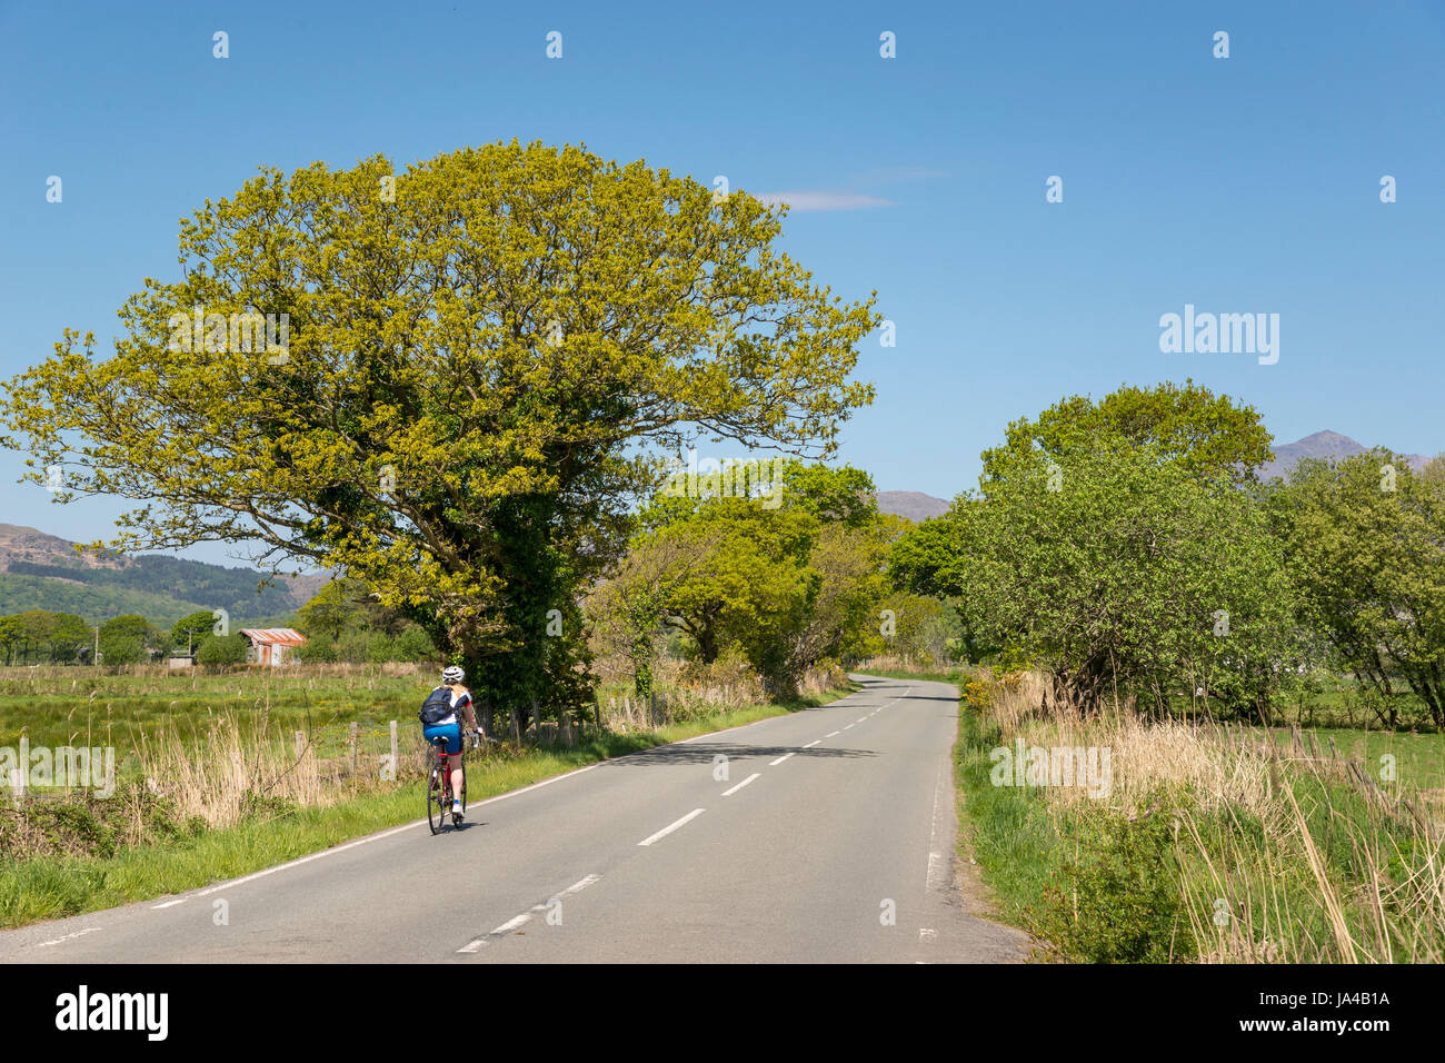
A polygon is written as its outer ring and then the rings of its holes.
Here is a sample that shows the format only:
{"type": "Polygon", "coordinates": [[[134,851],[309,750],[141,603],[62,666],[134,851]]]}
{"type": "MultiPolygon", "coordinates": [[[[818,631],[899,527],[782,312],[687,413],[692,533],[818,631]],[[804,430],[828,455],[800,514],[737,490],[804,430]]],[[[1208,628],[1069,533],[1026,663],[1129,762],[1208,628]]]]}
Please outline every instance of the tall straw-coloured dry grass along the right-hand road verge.
{"type": "Polygon", "coordinates": [[[1009,742],[1108,751],[1107,795],[1040,790],[1055,827],[1170,817],[1198,960],[1445,962],[1442,824],[1392,807],[1344,761],[1283,756],[1209,722],[1149,722],[1129,704],[1085,717],[1033,674],[980,671],[965,690],[1009,742]]]}

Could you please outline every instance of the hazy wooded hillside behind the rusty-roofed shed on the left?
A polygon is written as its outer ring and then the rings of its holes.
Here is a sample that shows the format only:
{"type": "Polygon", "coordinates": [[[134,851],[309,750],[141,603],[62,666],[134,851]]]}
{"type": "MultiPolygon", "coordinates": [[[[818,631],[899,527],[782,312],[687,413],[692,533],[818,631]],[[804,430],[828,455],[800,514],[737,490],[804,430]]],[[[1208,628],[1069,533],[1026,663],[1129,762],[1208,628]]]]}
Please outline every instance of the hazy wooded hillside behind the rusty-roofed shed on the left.
{"type": "Polygon", "coordinates": [[[140,613],[171,625],[199,610],[225,609],[234,622],[272,620],[309,602],[325,576],[264,579],[163,554],[79,554],[75,544],[35,528],[0,524],[0,616],[26,609],[78,613],[95,623],[140,613]]]}

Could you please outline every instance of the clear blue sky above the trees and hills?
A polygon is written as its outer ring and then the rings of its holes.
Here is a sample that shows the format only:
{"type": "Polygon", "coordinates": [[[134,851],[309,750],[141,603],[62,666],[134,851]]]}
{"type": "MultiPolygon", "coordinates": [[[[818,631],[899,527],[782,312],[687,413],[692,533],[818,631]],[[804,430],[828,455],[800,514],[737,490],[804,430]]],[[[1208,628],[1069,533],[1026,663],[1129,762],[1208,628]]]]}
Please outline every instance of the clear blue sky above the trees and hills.
{"type": "MultiPolygon", "coordinates": [[[[114,336],[178,218],[259,165],[519,137],[796,194],[785,249],[896,323],[841,451],[880,489],[952,496],[1010,419],[1186,376],[1280,443],[1445,450],[1445,3],[987,7],[0,4],[0,375],[114,336]],[[1185,304],[1279,314],[1279,362],[1160,353],[1185,304]]],[[[90,539],[121,509],[19,469],[0,521],[90,539]]]]}

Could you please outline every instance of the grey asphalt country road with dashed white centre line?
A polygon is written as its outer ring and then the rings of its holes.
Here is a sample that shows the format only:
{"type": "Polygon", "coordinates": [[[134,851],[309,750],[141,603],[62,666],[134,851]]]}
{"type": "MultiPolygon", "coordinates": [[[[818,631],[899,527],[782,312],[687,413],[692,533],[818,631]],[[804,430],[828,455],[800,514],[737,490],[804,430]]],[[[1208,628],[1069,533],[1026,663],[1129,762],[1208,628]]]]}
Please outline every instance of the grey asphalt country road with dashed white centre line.
{"type": "Polygon", "coordinates": [[[957,691],[855,678],[819,709],[474,804],[435,837],[422,820],[4,931],[0,962],[1023,959],[954,882],[957,691]]]}

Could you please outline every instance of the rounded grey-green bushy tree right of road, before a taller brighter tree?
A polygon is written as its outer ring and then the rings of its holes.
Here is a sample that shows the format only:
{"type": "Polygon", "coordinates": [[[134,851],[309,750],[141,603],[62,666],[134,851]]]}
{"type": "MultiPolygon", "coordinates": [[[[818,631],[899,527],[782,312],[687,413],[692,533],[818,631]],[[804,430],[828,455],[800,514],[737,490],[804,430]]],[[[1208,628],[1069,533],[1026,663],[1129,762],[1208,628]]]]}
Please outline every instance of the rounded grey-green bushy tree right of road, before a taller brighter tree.
{"type": "Polygon", "coordinates": [[[1259,713],[1308,651],[1257,500],[1117,435],[997,460],[894,558],[896,581],[961,594],[974,646],[1048,667],[1085,706],[1117,690],[1259,713]]]}

